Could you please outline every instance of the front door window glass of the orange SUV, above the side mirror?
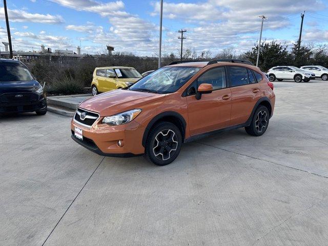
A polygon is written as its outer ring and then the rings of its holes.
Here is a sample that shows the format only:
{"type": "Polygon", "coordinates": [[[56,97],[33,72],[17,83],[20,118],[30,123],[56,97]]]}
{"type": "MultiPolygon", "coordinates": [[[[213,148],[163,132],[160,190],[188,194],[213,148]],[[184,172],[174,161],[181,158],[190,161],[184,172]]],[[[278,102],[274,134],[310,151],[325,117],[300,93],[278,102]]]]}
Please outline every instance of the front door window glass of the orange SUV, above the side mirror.
{"type": "Polygon", "coordinates": [[[197,79],[197,85],[211,84],[213,90],[226,88],[226,71],[224,67],[213,68],[209,71],[204,72],[197,79]]]}

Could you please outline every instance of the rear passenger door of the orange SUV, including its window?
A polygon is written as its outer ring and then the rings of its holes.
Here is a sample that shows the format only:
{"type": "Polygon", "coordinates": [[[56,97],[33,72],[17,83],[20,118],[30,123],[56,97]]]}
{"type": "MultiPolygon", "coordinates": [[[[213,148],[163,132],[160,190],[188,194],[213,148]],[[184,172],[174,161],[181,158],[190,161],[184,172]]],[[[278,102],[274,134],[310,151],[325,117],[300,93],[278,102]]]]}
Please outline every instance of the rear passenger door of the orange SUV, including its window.
{"type": "Polygon", "coordinates": [[[251,69],[228,66],[232,93],[231,126],[246,122],[261,98],[260,86],[251,69]]]}

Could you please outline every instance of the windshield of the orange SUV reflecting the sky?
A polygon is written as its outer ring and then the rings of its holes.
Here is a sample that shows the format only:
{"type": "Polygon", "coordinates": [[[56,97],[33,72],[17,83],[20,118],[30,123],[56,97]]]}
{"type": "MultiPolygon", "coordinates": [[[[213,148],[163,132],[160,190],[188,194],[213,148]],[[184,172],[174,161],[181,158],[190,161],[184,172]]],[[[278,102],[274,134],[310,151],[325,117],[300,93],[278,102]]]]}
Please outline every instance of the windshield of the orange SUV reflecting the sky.
{"type": "Polygon", "coordinates": [[[194,76],[198,67],[164,67],[140,79],[129,89],[153,93],[173,93],[194,76]]]}

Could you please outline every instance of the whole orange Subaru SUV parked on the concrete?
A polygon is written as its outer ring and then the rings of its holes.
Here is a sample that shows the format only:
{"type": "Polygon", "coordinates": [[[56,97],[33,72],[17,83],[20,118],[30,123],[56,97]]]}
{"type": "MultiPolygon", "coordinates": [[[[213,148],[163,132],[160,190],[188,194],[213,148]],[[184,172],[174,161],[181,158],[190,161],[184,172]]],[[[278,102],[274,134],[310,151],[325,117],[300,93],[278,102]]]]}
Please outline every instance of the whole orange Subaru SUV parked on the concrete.
{"type": "Polygon", "coordinates": [[[273,84],[247,60],[174,62],[85,100],[72,119],[72,138],[99,155],[145,155],[163,166],[183,142],[212,133],[243,127],[261,136],[274,105],[273,84]]]}

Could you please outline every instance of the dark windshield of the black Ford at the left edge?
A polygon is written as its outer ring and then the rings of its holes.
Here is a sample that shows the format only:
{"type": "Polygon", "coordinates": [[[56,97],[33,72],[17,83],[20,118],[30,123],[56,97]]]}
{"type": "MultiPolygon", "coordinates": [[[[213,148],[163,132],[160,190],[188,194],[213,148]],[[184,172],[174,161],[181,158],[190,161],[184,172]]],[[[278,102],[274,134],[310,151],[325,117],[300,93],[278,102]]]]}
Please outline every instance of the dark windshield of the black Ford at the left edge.
{"type": "Polygon", "coordinates": [[[30,71],[20,64],[0,64],[0,81],[33,80],[30,71]]]}

